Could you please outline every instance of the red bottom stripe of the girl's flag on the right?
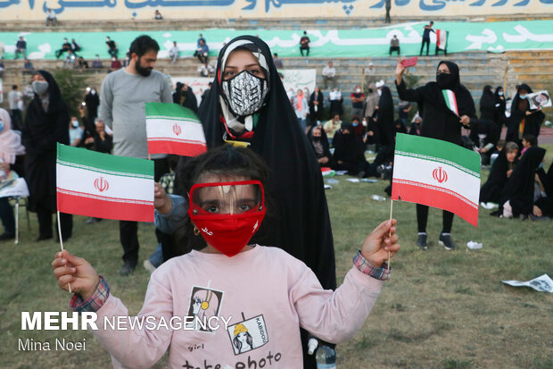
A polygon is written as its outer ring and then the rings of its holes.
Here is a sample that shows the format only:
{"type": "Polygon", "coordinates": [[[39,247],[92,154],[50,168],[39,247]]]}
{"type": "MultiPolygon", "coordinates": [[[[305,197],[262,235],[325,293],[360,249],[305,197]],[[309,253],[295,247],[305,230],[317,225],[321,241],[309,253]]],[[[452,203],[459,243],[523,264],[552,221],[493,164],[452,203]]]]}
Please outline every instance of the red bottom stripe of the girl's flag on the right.
{"type": "Polygon", "coordinates": [[[393,180],[392,200],[437,207],[457,214],[475,227],[478,225],[478,205],[450,189],[411,180],[393,180]]]}

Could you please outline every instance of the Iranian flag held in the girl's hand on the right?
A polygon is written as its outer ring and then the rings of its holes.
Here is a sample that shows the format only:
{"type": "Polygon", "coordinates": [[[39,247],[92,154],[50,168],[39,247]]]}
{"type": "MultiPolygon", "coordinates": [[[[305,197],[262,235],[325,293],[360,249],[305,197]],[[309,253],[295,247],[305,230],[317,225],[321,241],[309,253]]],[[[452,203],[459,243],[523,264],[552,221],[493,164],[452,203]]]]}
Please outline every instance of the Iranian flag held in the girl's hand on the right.
{"type": "Polygon", "coordinates": [[[398,133],[392,200],[458,214],[475,227],[480,196],[480,155],[440,139],[398,133]]]}

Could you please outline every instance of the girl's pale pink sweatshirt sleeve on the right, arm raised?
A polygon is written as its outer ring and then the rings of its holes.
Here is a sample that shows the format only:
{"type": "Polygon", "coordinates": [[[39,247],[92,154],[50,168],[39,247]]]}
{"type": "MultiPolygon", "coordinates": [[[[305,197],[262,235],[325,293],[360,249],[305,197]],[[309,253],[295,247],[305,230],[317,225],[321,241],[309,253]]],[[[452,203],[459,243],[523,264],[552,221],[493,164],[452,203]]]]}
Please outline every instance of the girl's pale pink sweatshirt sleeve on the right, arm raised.
{"type": "Polygon", "coordinates": [[[338,289],[323,289],[306,267],[289,293],[301,328],[320,339],[340,343],[363,326],[382,284],[353,267],[338,289]]]}

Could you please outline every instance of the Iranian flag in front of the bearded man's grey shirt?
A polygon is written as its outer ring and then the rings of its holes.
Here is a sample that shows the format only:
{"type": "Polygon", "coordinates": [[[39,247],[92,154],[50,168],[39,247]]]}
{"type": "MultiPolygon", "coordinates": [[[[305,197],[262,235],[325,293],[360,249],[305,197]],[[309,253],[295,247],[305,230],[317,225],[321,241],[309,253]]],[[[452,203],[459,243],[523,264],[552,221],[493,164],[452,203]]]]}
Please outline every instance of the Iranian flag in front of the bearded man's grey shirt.
{"type": "Polygon", "coordinates": [[[207,151],[202,123],[177,104],[146,103],[146,135],[149,154],[195,156],[207,151]]]}

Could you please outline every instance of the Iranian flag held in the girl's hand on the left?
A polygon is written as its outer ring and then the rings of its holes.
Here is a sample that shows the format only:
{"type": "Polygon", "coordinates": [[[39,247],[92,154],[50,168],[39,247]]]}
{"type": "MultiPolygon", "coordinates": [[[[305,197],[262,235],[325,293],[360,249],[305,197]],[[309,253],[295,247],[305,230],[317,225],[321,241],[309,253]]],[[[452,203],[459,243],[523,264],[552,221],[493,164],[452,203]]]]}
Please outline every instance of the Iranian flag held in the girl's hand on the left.
{"type": "Polygon", "coordinates": [[[58,143],[58,211],[153,222],[153,162],[58,143]]]}

